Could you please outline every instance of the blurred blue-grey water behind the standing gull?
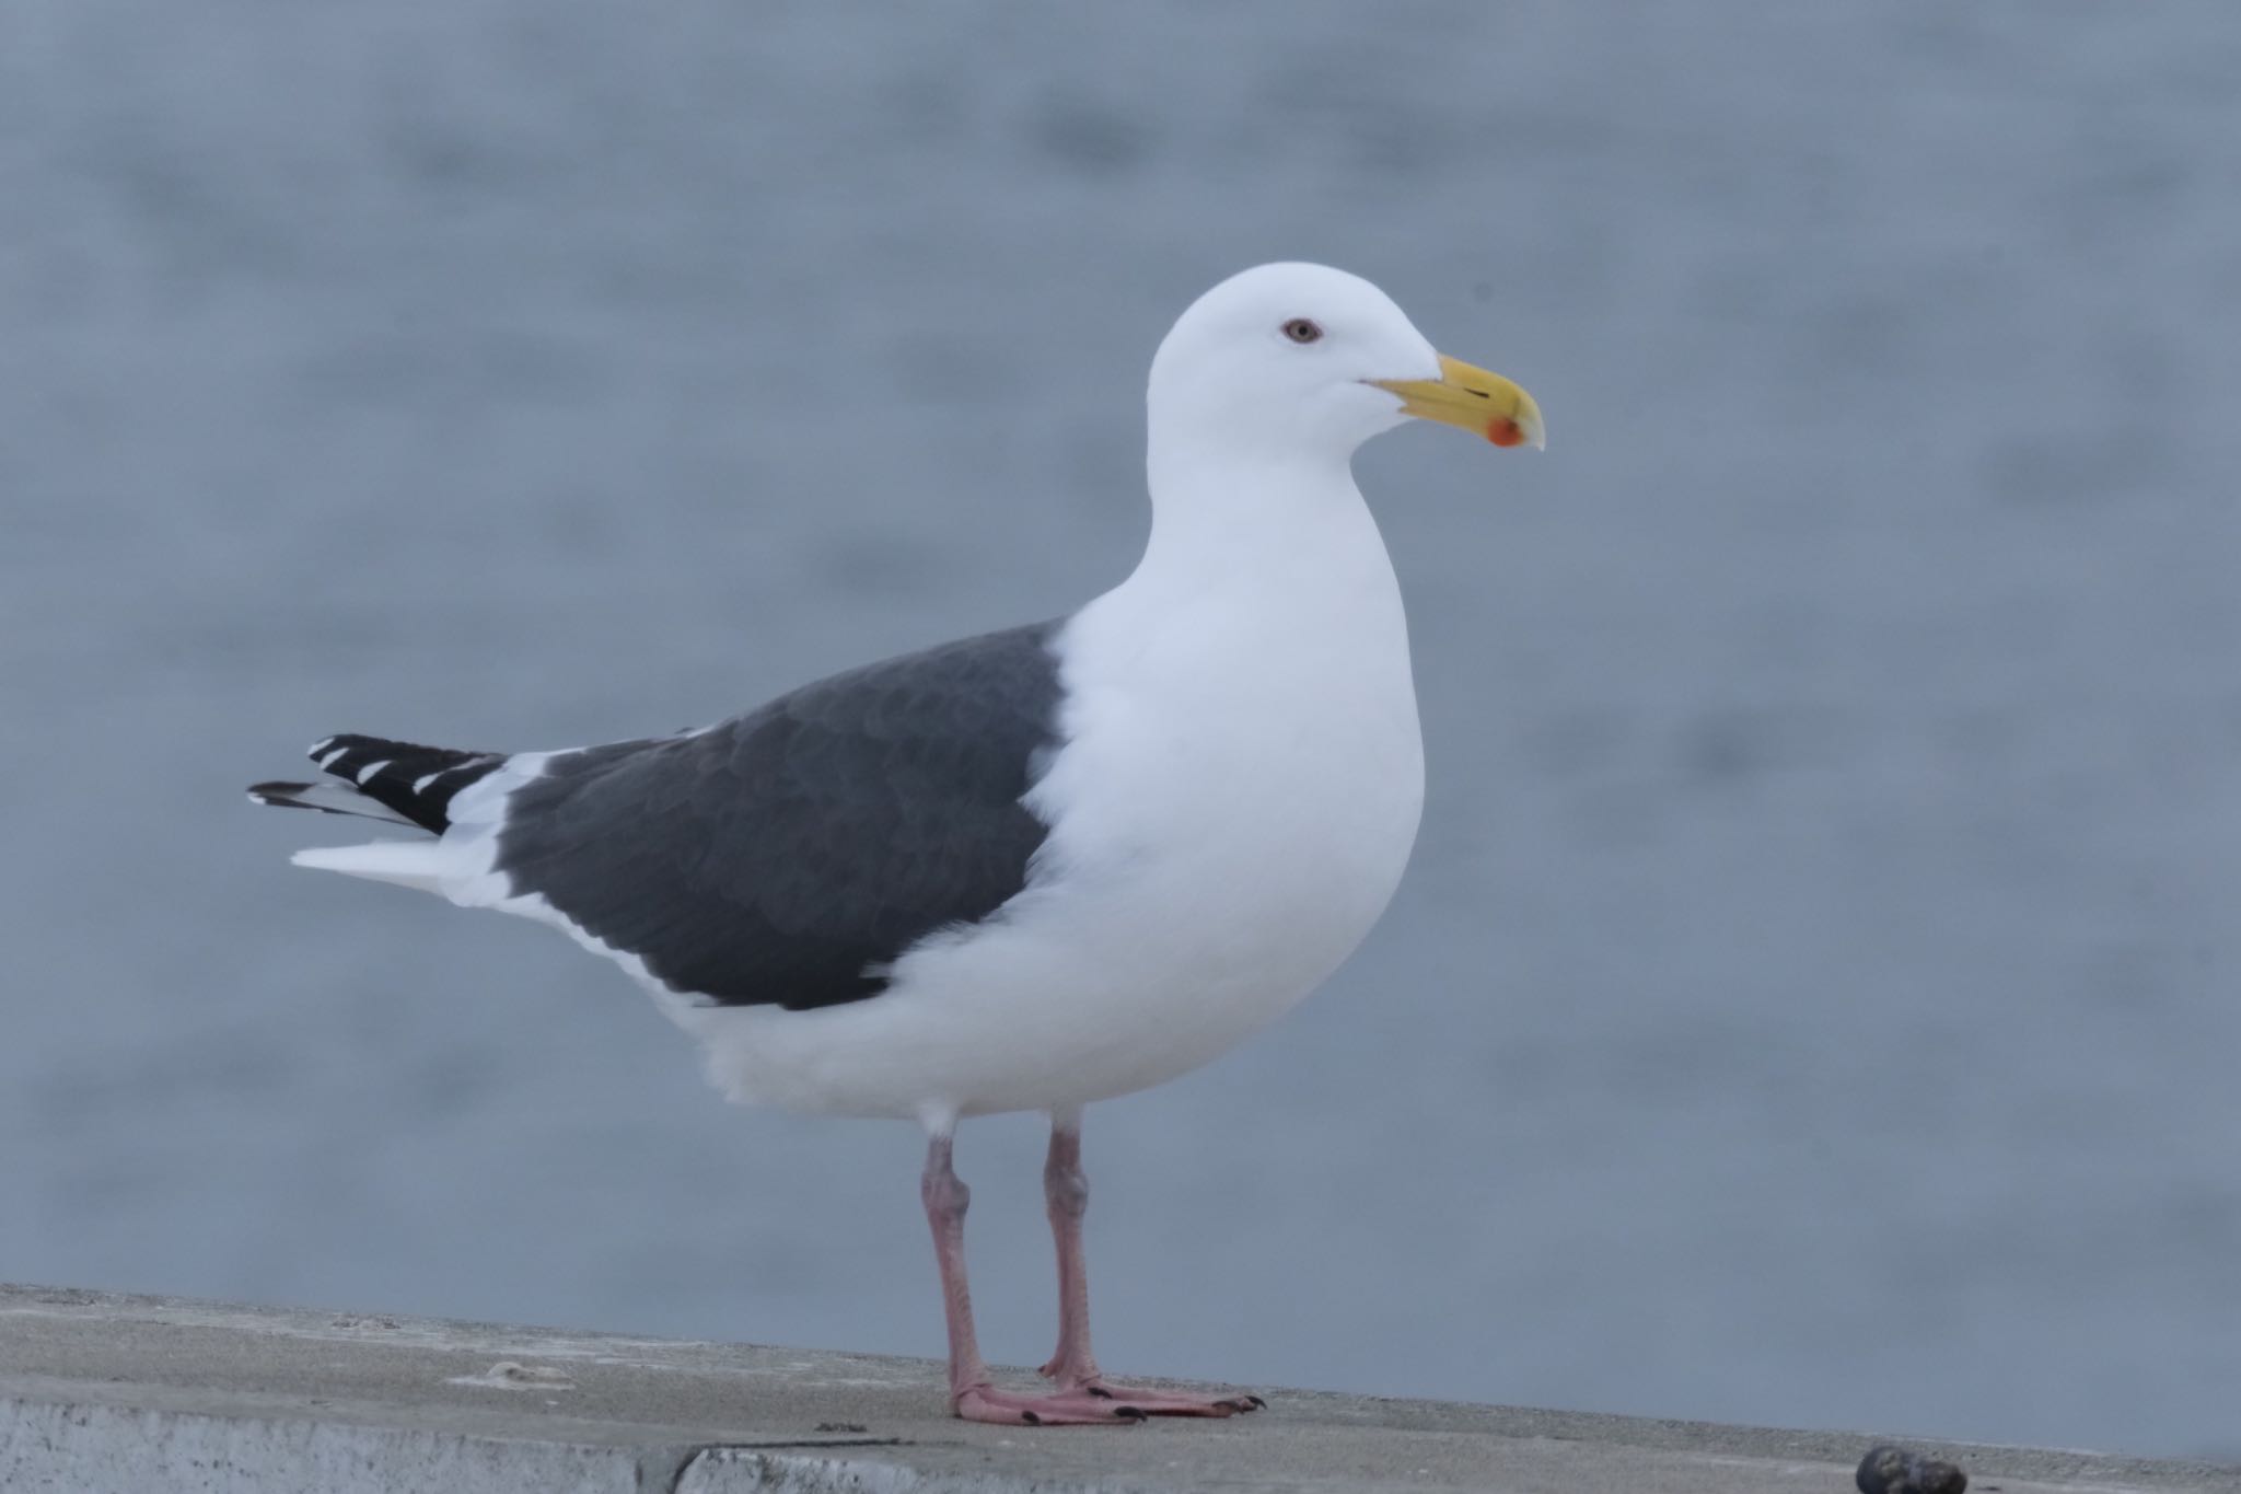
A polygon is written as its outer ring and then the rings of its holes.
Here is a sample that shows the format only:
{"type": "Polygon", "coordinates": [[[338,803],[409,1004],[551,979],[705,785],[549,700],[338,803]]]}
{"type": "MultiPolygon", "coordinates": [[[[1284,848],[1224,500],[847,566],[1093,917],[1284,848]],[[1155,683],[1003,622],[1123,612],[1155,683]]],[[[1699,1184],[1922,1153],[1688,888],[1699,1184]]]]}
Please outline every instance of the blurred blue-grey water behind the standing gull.
{"type": "MultiPolygon", "coordinates": [[[[1360,464],[1423,840],[1091,1111],[1107,1364],[2241,1456],[2237,76],[2225,0],[13,0],[0,1277],[939,1353],[917,1136],[240,788],[1067,609],[1172,316],[1315,258],[1553,443],[1360,464]]],[[[1013,1362],[1038,1165],[964,1136],[1013,1362]]]]}

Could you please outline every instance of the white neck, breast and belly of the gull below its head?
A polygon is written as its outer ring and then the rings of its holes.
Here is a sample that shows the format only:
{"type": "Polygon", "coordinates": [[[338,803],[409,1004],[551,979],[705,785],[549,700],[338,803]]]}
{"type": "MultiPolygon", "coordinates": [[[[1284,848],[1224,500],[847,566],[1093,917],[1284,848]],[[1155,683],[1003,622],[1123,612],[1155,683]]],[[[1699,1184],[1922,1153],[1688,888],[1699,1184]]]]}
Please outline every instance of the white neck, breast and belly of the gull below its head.
{"type": "Polygon", "coordinates": [[[1154,533],[1060,634],[1029,889],[910,950],[876,999],[679,1012],[717,1082],[874,1115],[1087,1104],[1206,1064],[1329,977],[1401,880],[1423,746],[1369,511],[1351,482],[1311,499],[1253,567],[1154,533]]]}

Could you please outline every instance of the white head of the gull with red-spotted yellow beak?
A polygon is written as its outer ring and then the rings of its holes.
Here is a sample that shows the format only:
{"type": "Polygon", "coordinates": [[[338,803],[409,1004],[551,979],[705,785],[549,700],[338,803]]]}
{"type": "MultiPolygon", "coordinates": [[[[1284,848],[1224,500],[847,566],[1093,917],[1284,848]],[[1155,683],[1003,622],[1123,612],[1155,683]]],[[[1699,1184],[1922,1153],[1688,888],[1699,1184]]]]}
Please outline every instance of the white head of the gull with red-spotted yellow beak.
{"type": "Polygon", "coordinates": [[[1152,443],[1345,459],[1416,417],[1542,446],[1533,396],[1441,356],[1401,307],[1324,264],[1259,264],[1199,296],[1152,358],[1152,443]]]}

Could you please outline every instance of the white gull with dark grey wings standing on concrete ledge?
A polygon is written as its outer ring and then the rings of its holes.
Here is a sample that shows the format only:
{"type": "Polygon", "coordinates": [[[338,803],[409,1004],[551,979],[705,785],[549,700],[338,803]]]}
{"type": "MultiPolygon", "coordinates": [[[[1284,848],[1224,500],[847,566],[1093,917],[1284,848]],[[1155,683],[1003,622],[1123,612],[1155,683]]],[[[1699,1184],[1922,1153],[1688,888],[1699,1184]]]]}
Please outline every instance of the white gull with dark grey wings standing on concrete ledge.
{"type": "Polygon", "coordinates": [[[1351,457],[1405,419],[1542,446],[1522,387],[1380,289],[1262,264],[1152,358],[1152,535],[1112,591],[802,685],[701,730],[551,753],[341,735],[260,804],[412,840],[300,867],[549,923],[627,970],[737,1102],[914,1120],[955,1416],[1230,1416],[1248,1393],[1105,1380],[1089,1348],[1082,1107],[1188,1073],[1329,977],[1423,809],[1401,587],[1351,457]],[[968,1115],[1051,1122],[1049,1393],[973,1335],[950,1162],[968,1115]]]}

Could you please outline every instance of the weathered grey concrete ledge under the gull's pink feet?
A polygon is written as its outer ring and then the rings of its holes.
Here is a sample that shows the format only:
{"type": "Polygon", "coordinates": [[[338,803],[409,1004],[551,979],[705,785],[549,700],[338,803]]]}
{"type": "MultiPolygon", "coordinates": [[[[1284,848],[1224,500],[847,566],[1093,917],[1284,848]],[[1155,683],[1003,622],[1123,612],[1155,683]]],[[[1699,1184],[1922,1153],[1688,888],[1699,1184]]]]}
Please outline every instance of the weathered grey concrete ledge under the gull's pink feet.
{"type": "MultiPolygon", "coordinates": [[[[1026,1431],[950,1420],[939,1386],[921,1360],[0,1288],[0,1490],[1842,1494],[1891,1440],[1315,1391],[1026,1431]]],[[[2241,1467],[1918,1447],[2003,1494],[2241,1490],[2241,1467]]]]}

